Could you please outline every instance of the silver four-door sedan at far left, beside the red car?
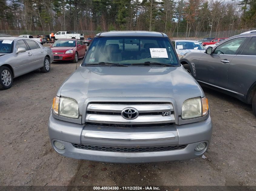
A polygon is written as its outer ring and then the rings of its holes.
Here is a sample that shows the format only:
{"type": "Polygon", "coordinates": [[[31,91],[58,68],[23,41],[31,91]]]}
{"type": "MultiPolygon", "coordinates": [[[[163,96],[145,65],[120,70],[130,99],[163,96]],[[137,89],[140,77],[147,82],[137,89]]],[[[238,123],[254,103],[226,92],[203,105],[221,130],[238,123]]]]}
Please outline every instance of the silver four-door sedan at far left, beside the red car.
{"type": "Polygon", "coordinates": [[[11,88],[13,78],[40,68],[50,71],[53,54],[34,39],[0,37],[0,89],[11,88]]]}

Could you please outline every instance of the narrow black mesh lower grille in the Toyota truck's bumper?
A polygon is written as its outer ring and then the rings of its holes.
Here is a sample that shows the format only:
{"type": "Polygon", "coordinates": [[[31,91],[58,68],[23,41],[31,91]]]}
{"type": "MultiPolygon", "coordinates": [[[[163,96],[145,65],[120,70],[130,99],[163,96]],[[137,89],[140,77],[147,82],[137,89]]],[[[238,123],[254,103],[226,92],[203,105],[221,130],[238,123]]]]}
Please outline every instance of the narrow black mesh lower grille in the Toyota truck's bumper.
{"type": "Polygon", "coordinates": [[[75,148],[92,150],[92,151],[109,151],[109,152],[155,152],[155,151],[174,151],[186,148],[188,145],[172,145],[163,147],[136,147],[136,148],[121,148],[121,147],[101,147],[92,145],[80,145],[72,143],[75,148]]]}

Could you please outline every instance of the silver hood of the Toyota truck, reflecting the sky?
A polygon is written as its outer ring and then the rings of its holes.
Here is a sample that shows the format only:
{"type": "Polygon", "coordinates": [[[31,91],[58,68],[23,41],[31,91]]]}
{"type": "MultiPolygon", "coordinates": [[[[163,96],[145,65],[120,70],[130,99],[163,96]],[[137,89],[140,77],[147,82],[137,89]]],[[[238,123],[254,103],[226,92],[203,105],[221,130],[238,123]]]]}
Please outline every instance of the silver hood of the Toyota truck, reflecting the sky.
{"type": "Polygon", "coordinates": [[[204,97],[204,92],[182,66],[80,66],[64,81],[57,95],[77,100],[79,112],[89,97],[170,97],[180,113],[185,100],[204,97]]]}

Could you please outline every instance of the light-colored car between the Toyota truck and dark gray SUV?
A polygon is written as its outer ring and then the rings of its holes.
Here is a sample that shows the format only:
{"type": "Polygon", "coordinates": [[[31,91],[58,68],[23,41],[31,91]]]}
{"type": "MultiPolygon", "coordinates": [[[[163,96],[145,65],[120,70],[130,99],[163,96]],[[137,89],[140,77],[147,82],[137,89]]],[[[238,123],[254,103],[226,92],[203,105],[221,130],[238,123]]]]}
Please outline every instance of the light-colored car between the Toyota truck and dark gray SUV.
{"type": "Polygon", "coordinates": [[[188,52],[205,52],[204,46],[195,40],[172,40],[171,43],[175,47],[179,59],[188,52]]]}

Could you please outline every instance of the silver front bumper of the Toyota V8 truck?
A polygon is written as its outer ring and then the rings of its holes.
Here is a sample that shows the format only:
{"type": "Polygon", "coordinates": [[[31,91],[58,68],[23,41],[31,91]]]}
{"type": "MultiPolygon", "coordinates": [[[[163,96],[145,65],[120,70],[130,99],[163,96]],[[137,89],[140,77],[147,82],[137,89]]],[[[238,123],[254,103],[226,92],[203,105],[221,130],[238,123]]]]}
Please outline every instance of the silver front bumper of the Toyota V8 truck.
{"type": "MultiPolygon", "coordinates": [[[[210,116],[208,119],[184,125],[173,125],[165,127],[150,127],[150,128],[137,128],[137,129],[119,129],[111,127],[112,132],[108,127],[98,127],[81,125],[76,123],[65,122],[59,119],[55,119],[52,114],[49,119],[48,132],[53,148],[59,154],[75,159],[84,159],[90,161],[101,162],[114,162],[114,163],[149,163],[149,162],[161,162],[161,161],[176,161],[196,158],[204,154],[207,151],[212,132],[212,124],[210,116]],[[150,134],[145,133],[151,132],[150,134]],[[152,132],[154,130],[154,132],[152,132]],[[140,140],[101,140],[99,138],[85,138],[85,132],[108,132],[115,134],[123,132],[137,133],[141,135],[140,140]],[[117,132],[116,132],[117,131],[117,132]],[[161,133],[172,133],[175,135],[173,139],[152,139],[146,140],[148,135],[159,135],[161,133]],[[141,140],[145,138],[145,140],[141,140]],[[64,150],[59,150],[54,146],[54,141],[57,140],[65,145],[64,150]],[[200,142],[205,142],[206,147],[202,151],[195,151],[194,148],[200,142]],[[112,147],[156,147],[166,145],[187,145],[186,148],[172,151],[154,151],[154,152],[112,152],[112,151],[95,151],[75,148],[72,143],[86,144],[95,146],[112,146],[112,147]]],[[[157,136],[156,136],[157,137],[157,136]]]]}

